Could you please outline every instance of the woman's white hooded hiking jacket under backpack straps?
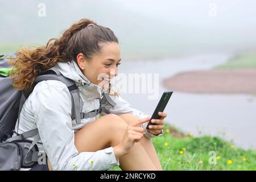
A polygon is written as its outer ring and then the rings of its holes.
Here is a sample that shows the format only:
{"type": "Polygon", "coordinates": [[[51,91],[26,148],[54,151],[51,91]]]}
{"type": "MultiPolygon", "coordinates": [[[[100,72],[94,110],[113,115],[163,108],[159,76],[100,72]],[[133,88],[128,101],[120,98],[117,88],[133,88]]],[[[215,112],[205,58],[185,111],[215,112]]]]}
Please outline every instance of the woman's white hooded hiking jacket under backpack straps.
{"type": "MultiPolygon", "coordinates": [[[[55,66],[61,74],[75,81],[80,90],[81,112],[88,112],[100,107],[97,98],[102,98],[102,88],[92,84],[80,71],[75,61],[57,63],[55,66]]],[[[131,108],[128,102],[120,96],[110,96],[117,104],[110,113],[131,113],[139,119],[148,115],[137,109],[131,108]]],[[[98,117],[81,119],[80,124],[71,119],[71,96],[67,86],[60,81],[47,80],[39,82],[30,96],[27,98],[20,113],[19,133],[38,128],[43,150],[51,162],[53,170],[73,170],[76,164],[77,170],[106,170],[119,166],[115,158],[113,147],[105,148],[96,152],[77,151],[75,146],[75,132],[88,123],[94,122],[98,117]]],[[[155,137],[147,133],[147,138],[155,137]]],[[[17,125],[15,127],[17,131],[17,125]]],[[[163,131],[162,131],[163,133],[163,131]]],[[[160,134],[162,135],[162,134],[160,134]]],[[[158,135],[159,136],[159,135],[158,135]]],[[[30,138],[33,139],[33,138],[30,138]]]]}

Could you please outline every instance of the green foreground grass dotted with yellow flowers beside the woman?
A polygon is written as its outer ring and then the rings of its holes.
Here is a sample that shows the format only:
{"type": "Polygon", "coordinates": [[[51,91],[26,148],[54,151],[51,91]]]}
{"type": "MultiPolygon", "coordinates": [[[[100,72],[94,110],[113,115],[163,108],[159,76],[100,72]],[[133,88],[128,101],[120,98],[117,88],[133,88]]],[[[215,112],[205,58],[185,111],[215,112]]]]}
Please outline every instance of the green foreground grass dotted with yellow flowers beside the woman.
{"type": "MultiPolygon", "coordinates": [[[[164,171],[172,170],[256,170],[256,151],[235,147],[219,137],[175,137],[166,125],[164,135],[152,139],[164,171]]],[[[184,134],[184,133],[183,133],[184,134]]],[[[181,134],[181,135],[183,135],[181,134]]],[[[110,171],[119,171],[114,167],[110,171]]]]}

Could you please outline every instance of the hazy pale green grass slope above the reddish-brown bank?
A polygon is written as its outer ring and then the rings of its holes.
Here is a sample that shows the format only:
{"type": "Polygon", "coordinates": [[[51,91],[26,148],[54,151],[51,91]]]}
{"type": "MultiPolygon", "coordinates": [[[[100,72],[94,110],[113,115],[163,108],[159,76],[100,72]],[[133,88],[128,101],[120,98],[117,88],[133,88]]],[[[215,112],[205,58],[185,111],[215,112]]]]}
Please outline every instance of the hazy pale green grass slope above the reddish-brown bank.
{"type": "Polygon", "coordinates": [[[214,69],[256,69],[256,52],[243,53],[214,69]]]}

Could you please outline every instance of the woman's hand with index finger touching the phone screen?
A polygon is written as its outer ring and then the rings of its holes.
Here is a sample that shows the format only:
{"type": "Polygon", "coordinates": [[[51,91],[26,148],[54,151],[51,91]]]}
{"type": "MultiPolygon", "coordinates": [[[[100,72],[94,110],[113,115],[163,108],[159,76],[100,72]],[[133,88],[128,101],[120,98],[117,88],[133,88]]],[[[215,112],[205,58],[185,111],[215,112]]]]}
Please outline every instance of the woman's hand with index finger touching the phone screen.
{"type": "Polygon", "coordinates": [[[122,142],[114,147],[116,158],[126,155],[130,152],[134,142],[139,142],[143,137],[144,129],[140,127],[143,123],[150,120],[150,117],[144,118],[138,122],[131,123],[127,126],[122,142]]]}

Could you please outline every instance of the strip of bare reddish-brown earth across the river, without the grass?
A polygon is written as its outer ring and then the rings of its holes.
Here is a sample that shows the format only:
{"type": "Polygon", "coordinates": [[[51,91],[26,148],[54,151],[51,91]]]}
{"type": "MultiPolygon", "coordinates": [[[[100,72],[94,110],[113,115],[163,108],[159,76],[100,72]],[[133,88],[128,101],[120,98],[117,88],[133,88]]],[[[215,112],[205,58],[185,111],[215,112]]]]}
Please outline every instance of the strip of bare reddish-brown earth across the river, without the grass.
{"type": "Polygon", "coordinates": [[[256,93],[256,69],[179,73],[163,81],[167,88],[192,93],[256,93]]]}

